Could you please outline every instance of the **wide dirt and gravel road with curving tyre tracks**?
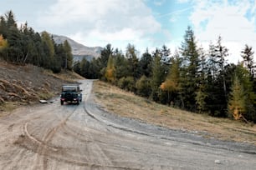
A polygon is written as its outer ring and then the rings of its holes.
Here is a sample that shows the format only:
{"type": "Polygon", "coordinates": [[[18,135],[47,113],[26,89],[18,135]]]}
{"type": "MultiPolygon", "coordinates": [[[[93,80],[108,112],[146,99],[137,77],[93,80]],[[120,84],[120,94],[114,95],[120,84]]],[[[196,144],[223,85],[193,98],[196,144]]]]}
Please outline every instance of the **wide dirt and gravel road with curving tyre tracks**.
{"type": "MultiPolygon", "coordinates": [[[[254,169],[256,147],[225,143],[104,112],[83,102],[23,107],[0,118],[0,169],[254,169]]],[[[118,106],[116,106],[118,107],[118,106]]]]}

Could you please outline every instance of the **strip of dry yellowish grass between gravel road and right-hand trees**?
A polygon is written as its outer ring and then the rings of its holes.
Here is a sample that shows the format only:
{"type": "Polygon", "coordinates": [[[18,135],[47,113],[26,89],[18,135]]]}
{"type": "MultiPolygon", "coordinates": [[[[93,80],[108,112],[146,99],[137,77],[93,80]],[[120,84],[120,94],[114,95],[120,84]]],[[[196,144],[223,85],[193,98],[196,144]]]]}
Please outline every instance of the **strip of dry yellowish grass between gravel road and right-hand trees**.
{"type": "Polygon", "coordinates": [[[107,111],[124,117],[136,118],[162,127],[198,133],[205,138],[220,138],[256,145],[255,124],[167,107],[143,97],[136,97],[131,92],[125,92],[100,81],[95,82],[94,92],[95,100],[107,111]]]}

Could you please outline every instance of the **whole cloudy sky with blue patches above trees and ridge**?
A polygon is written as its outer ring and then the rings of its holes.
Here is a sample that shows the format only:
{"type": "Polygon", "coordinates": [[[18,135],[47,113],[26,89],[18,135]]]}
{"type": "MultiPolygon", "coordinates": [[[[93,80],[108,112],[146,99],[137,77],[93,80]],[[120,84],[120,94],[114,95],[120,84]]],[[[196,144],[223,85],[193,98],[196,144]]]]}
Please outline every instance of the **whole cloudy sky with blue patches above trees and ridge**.
{"type": "Polygon", "coordinates": [[[10,10],[18,24],[88,47],[125,52],[131,43],[142,54],[166,45],[174,53],[190,26],[206,51],[221,36],[228,62],[242,61],[245,44],[256,50],[255,0],[1,0],[0,15],[10,10]]]}

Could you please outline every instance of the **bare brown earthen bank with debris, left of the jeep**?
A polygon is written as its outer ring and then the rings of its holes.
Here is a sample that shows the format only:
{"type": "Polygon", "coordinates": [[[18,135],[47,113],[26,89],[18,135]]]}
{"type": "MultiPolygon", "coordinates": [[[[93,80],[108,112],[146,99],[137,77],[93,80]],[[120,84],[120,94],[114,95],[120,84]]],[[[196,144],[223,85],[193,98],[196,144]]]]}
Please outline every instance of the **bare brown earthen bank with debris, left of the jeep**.
{"type": "Polygon", "coordinates": [[[39,99],[49,99],[59,93],[61,84],[72,82],[73,72],[53,74],[33,65],[13,65],[0,61],[0,116],[9,108],[39,99]]]}

